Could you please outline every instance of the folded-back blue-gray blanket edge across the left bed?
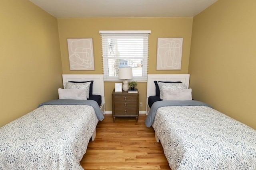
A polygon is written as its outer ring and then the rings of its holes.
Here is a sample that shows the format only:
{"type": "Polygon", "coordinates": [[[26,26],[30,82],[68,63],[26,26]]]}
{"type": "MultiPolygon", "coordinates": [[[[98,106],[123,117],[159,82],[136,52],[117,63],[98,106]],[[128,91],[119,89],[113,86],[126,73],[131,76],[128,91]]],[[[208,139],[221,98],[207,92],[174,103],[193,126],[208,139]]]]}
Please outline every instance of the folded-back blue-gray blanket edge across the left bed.
{"type": "Polygon", "coordinates": [[[102,121],[104,115],[102,114],[98,103],[94,100],[70,100],[70,99],[56,99],[48,102],[41,103],[38,107],[44,105],[89,105],[94,108],[97,118],[102,121]]]}

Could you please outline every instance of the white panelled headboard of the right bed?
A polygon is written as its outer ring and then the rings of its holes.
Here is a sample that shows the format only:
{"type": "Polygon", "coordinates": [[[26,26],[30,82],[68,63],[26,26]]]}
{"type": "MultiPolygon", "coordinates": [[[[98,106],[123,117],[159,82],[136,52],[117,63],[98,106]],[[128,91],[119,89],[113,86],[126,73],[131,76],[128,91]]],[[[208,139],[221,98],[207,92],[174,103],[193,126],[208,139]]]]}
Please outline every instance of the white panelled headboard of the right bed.
{"type": "Polygon", "coordinates": [[[164,82],[183,82],[188,84],[189,87],[189,78],[190,74],[148,74],[148,86],[147,86],[147,110],[146,114],[149,111],[148,107],[148,97],[156,95],[156,85],[154,81],[164,81],[164,82]]]}

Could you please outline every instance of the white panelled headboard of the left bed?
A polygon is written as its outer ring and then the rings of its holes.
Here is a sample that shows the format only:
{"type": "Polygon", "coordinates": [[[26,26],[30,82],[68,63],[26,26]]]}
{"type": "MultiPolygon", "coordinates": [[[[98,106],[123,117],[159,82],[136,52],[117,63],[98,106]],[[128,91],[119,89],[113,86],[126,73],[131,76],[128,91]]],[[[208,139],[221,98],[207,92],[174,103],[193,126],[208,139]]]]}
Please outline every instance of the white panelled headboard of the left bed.
{"type": "Polygon", "coordinates": [[[101,95],[102,104],[105,103],[103,74],[62,74],[63,84],[68,81],[90,81],[93,80],[92,94],[101,95]]]}

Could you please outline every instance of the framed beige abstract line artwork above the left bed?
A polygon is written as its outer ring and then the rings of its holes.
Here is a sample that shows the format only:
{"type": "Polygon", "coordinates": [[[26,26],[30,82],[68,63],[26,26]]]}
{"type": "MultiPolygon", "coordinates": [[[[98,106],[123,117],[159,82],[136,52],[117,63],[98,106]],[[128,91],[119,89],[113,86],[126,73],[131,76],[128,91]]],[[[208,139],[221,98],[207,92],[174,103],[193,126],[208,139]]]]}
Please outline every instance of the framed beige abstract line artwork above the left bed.
{"type": "Polygon", "coordinates": [[[70,70],[94,70],[92,38],[68,39],[70,70]]]}

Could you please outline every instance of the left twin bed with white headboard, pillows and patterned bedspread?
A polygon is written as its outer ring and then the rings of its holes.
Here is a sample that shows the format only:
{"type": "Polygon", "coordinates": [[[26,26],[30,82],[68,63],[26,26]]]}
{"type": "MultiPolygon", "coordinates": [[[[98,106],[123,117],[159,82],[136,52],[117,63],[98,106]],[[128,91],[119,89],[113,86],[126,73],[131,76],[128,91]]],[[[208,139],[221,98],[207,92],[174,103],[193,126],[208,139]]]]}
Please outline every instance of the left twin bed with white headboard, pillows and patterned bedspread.
{"type": "Polygon", "coordinates": [[[98,121],[104,119],[103,75],[64,74],[64,87],[67,82],[75,89],[59,89],[62,99],[44,102],[34,111],[0,127],[1,170],[83,170],[80,160],[90,139],[96,136],[98,121]],[[86,90],[79,89],[83,85],[86,90]],[[89,99],[66,99],[71,94],[66,91],[78,92],[72,98],[86,92],[89,99]]]}

